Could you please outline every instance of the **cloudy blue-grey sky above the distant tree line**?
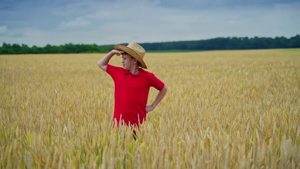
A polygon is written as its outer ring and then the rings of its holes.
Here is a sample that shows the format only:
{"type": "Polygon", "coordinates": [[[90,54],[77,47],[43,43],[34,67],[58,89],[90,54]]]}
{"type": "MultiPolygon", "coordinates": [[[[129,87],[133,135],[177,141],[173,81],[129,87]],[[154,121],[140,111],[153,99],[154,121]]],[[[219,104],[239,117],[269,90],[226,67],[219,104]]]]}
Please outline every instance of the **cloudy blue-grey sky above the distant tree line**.
{"type": "Polygon", "coordinates": [[[0,46],[300,34],[300,0],[0,0],[0,46]]]}

